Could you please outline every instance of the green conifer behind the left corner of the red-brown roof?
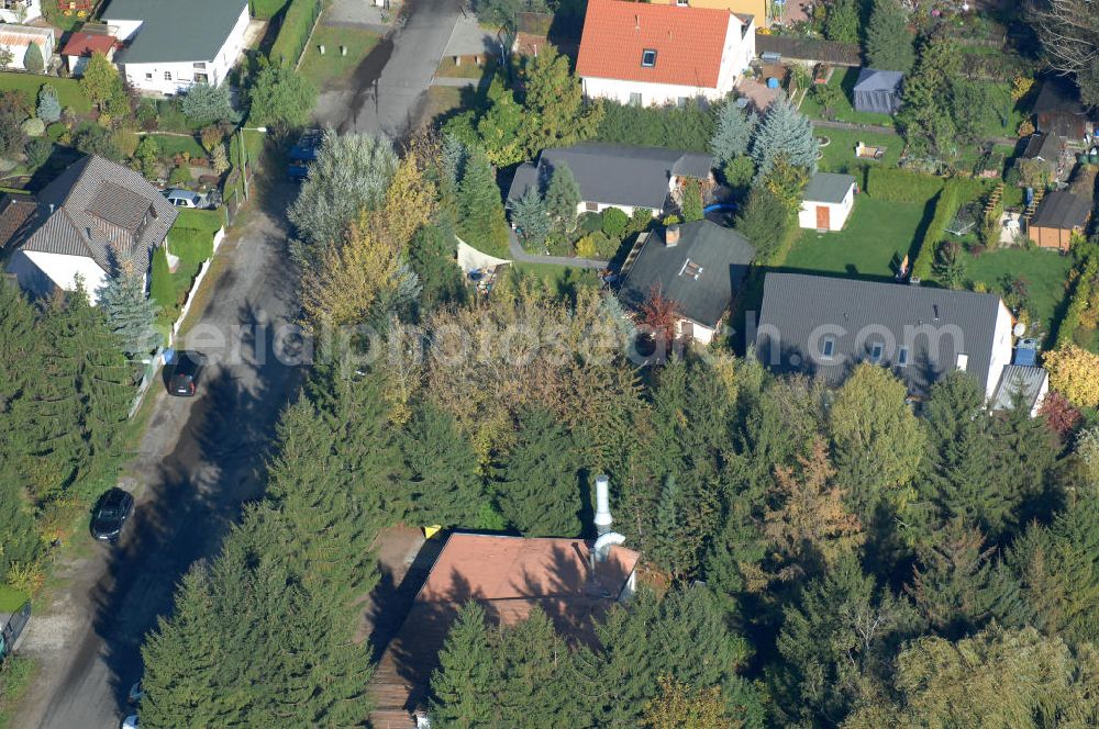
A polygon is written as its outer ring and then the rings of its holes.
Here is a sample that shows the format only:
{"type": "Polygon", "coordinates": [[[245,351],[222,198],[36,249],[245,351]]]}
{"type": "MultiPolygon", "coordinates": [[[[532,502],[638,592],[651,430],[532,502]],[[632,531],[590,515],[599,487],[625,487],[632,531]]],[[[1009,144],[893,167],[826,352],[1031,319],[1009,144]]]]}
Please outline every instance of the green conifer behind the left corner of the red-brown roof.
{"type": "Polygon", "coordinates": [[[412,518],[446,527],[477,524],[485,504],[477,455],[449,413],[421,405],[401,438],[401,453],[400,486],[412,518]]]}

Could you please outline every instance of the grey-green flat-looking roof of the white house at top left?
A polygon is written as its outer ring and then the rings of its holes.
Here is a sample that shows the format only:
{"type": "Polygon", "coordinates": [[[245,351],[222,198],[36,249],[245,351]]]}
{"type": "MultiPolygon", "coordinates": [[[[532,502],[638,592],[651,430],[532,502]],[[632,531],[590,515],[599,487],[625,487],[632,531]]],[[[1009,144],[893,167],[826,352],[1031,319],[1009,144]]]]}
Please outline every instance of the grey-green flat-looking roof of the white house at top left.
{"type": "Polygon", "coordinates": [[[111,0],[108,22],[141,21],[119,64],[207,61],[217,58],[247,0],[111,0]]]}

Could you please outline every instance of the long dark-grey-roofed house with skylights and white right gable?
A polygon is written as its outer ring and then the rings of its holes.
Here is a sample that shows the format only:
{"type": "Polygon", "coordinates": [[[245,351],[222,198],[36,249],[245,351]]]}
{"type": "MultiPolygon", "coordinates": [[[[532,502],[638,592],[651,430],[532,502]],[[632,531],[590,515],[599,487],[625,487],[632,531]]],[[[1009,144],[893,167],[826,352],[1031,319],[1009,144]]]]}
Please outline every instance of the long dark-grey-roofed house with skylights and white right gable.
{"type": "Polygon", "coordinates": [[[954,369],[991,396],[1011,361],[1011,314],[995,294],[800,273],[768,273],[756,356],[777,372],[840,384],[863,361],[914,396],[954,369]]]}

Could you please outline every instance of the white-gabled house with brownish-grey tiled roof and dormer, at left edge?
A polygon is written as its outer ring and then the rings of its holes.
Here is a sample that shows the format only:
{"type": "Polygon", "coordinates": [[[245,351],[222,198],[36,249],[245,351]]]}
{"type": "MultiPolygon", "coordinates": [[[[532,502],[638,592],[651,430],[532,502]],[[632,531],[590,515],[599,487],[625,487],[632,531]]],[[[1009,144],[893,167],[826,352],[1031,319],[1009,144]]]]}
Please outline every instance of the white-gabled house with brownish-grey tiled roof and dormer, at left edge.
{"type": "Polygon", "coordinates": [[[121,257],[148,272],[176,209],[141,175],[102,157],[85,157],[36,195],[23,222],[8,273],[36,296],[74,291],[79,281],[92,303],[121,257]]]}

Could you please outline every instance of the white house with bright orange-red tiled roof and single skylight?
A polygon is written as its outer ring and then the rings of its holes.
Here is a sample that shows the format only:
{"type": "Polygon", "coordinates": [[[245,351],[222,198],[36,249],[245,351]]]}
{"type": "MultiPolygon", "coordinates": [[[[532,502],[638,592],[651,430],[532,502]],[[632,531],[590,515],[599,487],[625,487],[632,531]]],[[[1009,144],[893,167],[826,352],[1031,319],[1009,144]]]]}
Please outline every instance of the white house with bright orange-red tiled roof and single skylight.
{"type": "Polygon", "coordinates": [[[576,72],[589,99],[723,99],[755,56],[755,21],[726,10],[589,0],[576,72]]]}

